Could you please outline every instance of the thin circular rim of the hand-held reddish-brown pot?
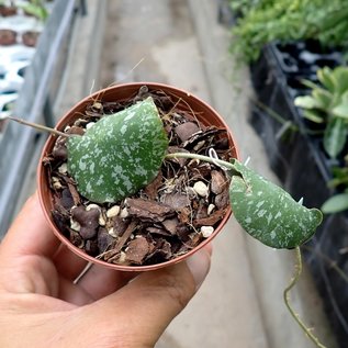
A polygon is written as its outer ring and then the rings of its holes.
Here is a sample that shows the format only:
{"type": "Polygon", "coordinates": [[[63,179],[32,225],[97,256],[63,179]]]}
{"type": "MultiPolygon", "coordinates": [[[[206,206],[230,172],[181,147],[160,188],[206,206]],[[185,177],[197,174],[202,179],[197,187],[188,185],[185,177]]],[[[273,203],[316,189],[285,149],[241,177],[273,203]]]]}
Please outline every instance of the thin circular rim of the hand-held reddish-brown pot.
{"type": "MultiPolygon", "coordinates": [[[[141,87],[143,86],[147,86],[150,90],[164,90],[166,93],[170,93],[171,96],[177,96],[181,94],[181,96],[186,96],[186,99],[192,99],[194,101],[194,103],[198,103],[200,105],[203,106],[203,109],[206,109],[210,111],[210,113],[214,114],[214,117],[218,120],[218,122],[221,123],[222,127],[226,128],[227,131],[227,137],[228,137],[228,142],[233,145],[233,151],[235,154],[235,158],[239,158],[239,154],[238,154],[238,148],[236,146],[236,142],[231,133],[229,127],[227,126],[227,124],[225,123],[225,121],[223,120],[223,117],[212,108],[207,103],[205,103],[203,100],[201,100],[199,97],[183,90],[177,87],[172,87],[170,85],[166,85],[166,83],[157,83],[157,82],[131,82],[131,83],[122,83],[122,85],[114,85],[104,89],[101,89],[86,98],[83,98],[82,100],[80,100],[78,103],[76,103],[74,106],[71,106],[66,113],[65,115],[58,121],[57,125],[56,125],[56,130],[60,130],[63,125],[65,125],[65,120],[67,117],[69,117],[71,114],[75,113],[75,111],[79,108],[81,108],[82,105],[89,103],[91,100],[97,100],[102,93],[105,92],[110,92],[113,90],[124,90],[124,89],[128,89],[130,91],[133,91],[132,93],[128,93],[128,97],[131,98],[133,94],[135,96],[136,92],[139,90],[141,87]]],[[[182,98],[182,97],[179,97],[182,98]]],[[[120,98],[120,100],[122,100],[120,98]]],[[[187,102],[187,100],[186,100],[187,102]]],[[[52,218],[52,213],[50,213],[50,207],[47,206],[46,204],[46,200],[45,200],[45,192],[49,191],[48,190],[44,190],[43,186],[45,184],[45,177],[46,177],[46,169],[45,167],[42,165],[43,162],[43,158],[45,157],[45,155],[48,153],[49,146],[54,143],[54,136],[49,135],[49,137],[47,138],[44,148],[42,150],[42,155],[38,161],[38,166],[37,166],[37,191],[38,191],[38,198],[40,198],[40,203],[41,206],[43,209],[44,215],[46,217],[46,221],[48,222],[49,227],[52,228],[53,233],[55,234],[55,236],[65,245],[67,246],[74,254],[78,255],[79,257],[83,258],[85,260],[96,263],[96,265],[101,265],[103,267],[110,268],[110,269],[114,269],[114,270],[119,270],[119,271],[133,271],[133,272],[139,272],[139,271],[150,271],[150,270],[156,270],[156,269],[160,269],[170,265],[175,265],[184,259],[187,259],[188,257],[190,257],[191,255],[193,255],[194,252],[197,252],[198,250],[200,250],[201,248],[203,248],[204,246],[206,246],[209,243],[211,243],[213,240],[213,238],[215,238],[215,236],[222,231],[222,228],[225,226],[225,224],[227,223],[231,214],[232,214],[232,210],[231,206],[227,207],[226,214],[225,216],[221,220],[218,226],[214,229],[213,234],[205,238],[204,240],[202,240],[197,247],[194,247],[193,249],[191,249],[190,251],[188,251],[184,255],[178,256],[175,259],[161,262],[161,263],[155,263],[155,265],[146,265],[146,266],[125,266],[125,265],[117,265],[117,263],[109,263],[105,262],[103,260],[99,260],[93,256],[90,256],[88,254],[86,254],[85,251],[82,251],[81,249],[79,249],[78,247],[76,247],[75,245],[72,245],[70,243],[70,240],[65,237],[60,231],[56,227],[56,225],[53,222],[52,218]]]]}

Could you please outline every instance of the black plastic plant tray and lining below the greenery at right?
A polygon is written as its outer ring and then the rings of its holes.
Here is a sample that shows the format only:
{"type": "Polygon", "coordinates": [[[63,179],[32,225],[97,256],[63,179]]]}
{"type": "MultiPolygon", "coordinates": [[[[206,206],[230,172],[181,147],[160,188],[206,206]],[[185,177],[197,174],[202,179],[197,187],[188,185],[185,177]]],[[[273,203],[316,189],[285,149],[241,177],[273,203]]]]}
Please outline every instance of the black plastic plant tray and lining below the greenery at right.
{"type": "MultiPolygon", "coordinates": [[[[271,168],[284,188],[306,206],[322,206],[334,194],[327,186],[332,179],[332,167],[340,160],[329,159],[322,138],[313,135],[315,127],[294,106],[294,98],[308,91],[301,79],[316,81],[316,69],[335,67],[343,61],[340,53],[323,50],[313,42],[274,43],[263,48],[259,60],[251,65],[251,80],[257,101],[251,108],[250,123],[261,137],[271,168]],[[265,108],[266,106],[266,108],[265,108]],[[299,127],[290,137],[278,136],[283,121],[299,127]]],[[[327,257],[348,274],[348,217],[347,214],[326,216],[315,238],[305,251],[314,280],[323,296],[324,305],[337,334],[340,347],[348,347],[348,283],[335,271],[327,257]],[[313,251],[314,249],[314,251],[313,251]],[[326,256],[321,256],[323,254],[326,256]]]]}

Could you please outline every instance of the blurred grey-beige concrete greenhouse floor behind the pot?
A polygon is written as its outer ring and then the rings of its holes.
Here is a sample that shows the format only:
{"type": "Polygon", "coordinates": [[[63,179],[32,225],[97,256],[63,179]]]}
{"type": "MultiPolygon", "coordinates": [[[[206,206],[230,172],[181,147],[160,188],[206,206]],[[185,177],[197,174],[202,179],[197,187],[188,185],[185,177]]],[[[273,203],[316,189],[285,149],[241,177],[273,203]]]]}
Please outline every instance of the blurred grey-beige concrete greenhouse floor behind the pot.
{"type": "MultiPolygon", "coordinates": [[[[212,104],[229,125],[242,159],[250,156],[249,166],[277,182],[247,122],[248,70],[236,66],[228,54],[231,37],[228,27],[217,21],[218,1],[89,0],[87,4],[88,14],[75,29],[59,114],[89,91],[111,83],[173,85],[212,104]]],[[[33,183],[29,191],[32,188],[33,183]]],[[[258,244],[231,218],[214,240],[206,281],[156,347],[313,347],[282,300],[293,256],[258,244]]],[[[291,299],[323,343],[336,347],[308,272],[304,271],[291,299]]]]}

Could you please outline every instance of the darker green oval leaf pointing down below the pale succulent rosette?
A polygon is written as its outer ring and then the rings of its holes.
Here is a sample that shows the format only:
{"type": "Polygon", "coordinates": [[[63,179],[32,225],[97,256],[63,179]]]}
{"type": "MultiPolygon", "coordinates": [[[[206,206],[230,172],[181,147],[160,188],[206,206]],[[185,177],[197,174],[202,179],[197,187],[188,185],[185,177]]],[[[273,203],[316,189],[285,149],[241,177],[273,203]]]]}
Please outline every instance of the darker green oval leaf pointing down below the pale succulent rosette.
{"type": "Polygon", "coordinates": [[[345,120],[332,119],[324,133],[324,148],[332,158],[336,158],[347,141],[347,123],[345,120]]]}

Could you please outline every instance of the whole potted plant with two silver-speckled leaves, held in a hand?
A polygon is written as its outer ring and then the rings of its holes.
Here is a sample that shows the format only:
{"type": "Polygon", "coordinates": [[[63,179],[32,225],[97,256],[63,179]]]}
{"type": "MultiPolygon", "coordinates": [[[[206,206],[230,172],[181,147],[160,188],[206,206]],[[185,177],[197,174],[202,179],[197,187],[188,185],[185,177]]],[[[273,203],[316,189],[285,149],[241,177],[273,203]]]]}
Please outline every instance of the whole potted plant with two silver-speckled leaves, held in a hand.
{"type": "Polygon", "coordinates": [[[318,210],[238,161],[212,108],[170,86],[101,90],[49,132],[40,200],[57,237],[91,262],[127,271],[178,262],[220,233],[231,209],[251,236],[296,248],[301,260],[299,246],[322,222],[318,210]]]}

